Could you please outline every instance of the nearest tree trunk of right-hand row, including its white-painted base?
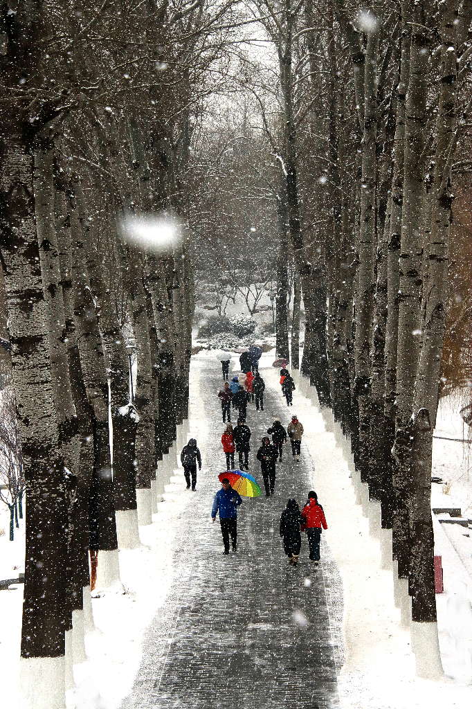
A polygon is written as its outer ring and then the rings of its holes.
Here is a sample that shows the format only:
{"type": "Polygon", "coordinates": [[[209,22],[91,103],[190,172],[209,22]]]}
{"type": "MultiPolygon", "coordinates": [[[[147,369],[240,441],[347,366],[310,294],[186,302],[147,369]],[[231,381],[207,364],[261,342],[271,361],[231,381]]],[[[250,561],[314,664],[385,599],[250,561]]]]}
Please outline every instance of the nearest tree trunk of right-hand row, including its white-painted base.
{"type": "MultiPolygon", "coordinates": [[[[415,624],[429,625],[429,661],[416,652],[417,672],[437,676],[442,665],[437,652],[434,593],[434,535],[431,519],[432,435],[436,424],[442,345],[447,313],[449,233],[451,226],[451,164],[456,146],[456,15],[459,0],[443,8],[439,108],[432,182],[432,214],[422,294],[422,347],[413,401],[412,484],[410,489],[410,593],[412,632],[415,624]],[[434,652],[436,651],[436,652],[434,652]]],[[[421,631],[420,631],[421,632],[421,631]]],[[[422,631],[424,632],[424,631],[422,631]]]]}

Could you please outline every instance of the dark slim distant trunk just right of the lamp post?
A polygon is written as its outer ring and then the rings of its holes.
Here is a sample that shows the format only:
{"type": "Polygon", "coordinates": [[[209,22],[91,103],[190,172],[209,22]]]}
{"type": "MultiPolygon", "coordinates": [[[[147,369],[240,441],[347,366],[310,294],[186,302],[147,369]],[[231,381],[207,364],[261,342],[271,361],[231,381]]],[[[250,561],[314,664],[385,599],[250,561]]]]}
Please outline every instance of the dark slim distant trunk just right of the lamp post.
{"type": "Polygon", "coordinates": [[[276,354],[290,359],[288,347],[288,262],[287,262],[287,210],[284,191],[277,196],[277,292],[276,292],[276,354]]]}

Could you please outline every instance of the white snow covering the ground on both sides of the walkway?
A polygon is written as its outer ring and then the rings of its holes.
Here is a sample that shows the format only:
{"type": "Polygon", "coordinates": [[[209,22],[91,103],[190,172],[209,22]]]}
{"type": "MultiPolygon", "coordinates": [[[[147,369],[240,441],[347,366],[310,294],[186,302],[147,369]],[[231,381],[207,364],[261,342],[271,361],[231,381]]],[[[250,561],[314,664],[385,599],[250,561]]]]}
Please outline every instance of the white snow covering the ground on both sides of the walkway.
{"type": "MultiPolygon", "coordinates": [[[[212,366],[210,361],[216,364],[214,352],[202,351],[197,357],[208,359],[209,367],[212,366]]],[[[278,387],[278,373],[270,367],[272,359],[274,353],[263,355],[264,377],[268,386],[278,387]]],[[[304,445],[313,460],[314,489],[330,520],[325,538],[344,586],[346,661],[339,674],[342,708],[454,709],[470,704],[472,579],[470,567],[464,565],[461,558],[463,554],[469,554],[470,558],[470,538],[462,536],[468,534],[468,530],[435,522],[437,552],[442,554],[444,566],[444,593],[437,596],[437,605],[446,676],[441,681],[418,680],[409,628],[402,625],[400,611],[393,603],[393,575],[391,570],[382,568],[380,545],[371,534],[359,497],[356,498],[339,438],[327,430],[330,421],[325,420],[313,404],[313,397],[302,396],[300,386],[293,411],[305,426],[304,445]],[[456,552],[459,546],[463,549],[461,555],[456,552]]],[[[457,432],[457,422],[450,420],[455,415],[442,405],[438,435],[443,435],[443,431],[444,435],[461,437],[451,435],[457,432]]],[[[190,433],[197,438],[204,437],[208,435],[208,425],[198,396],[198,377],[193,376],[190,433]]],[[[439,445],[442,449],[435,440],[434,472],[453,481],[450,493],[447,496],[441,493],[441,498],[454,499],[465,510],[468,487],[461,474],[466,470],[466,459],[462,459],[459,452],[451,453],[446,442],[439,445]]],[[[449,446],[461,448],[460,443],[450,442],[449,446]]],[[[439,495],[440,486],[436,487],[434,494],[439,495]]],[[[94,598],[96,630],[86,637],[88,661],[74,666],[77,688],[69,691],[68,709],[117,709],[133,686],[140,664],[142,637],[164,605],[172,584],[173,530],[178,527],[179,515],[189,503],[189,496],[182,495],[180,490],[181,472],[177,474],[176,467],[153,524],[140,528],[142,547],[120,552],[121,579],[127,592],[105,593],[101,598],[94,598]]],[[[6,531],[0,537],[1,575],[10,578],[12,572],[16,574],[21,570],[13,566],[21,566],[23,534],[16,530],[16,542],[9,542],[5,515],[0,525],[6,531]]],[[[21,603],[22,586],[0,591],[0,667],[1,674],[9,678],[1,688],[1,704],[5,706],[21,707],[18,693],[21,603]]]]}

